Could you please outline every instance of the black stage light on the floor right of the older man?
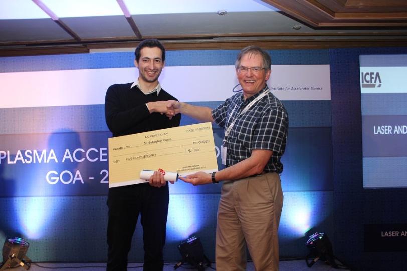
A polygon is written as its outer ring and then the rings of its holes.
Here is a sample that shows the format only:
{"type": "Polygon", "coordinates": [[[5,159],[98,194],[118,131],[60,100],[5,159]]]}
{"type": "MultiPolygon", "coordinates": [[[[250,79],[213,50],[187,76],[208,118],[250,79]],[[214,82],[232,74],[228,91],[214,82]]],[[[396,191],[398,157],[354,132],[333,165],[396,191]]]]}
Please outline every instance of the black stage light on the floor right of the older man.
{"type": "Polygon", "coordinates": [[[308,241],[305,244],[310,253],[305,258],[308,267],[314,265],[319,259],[325,261],[325,263],[336,267],[335,257],[333,255],[332,244],[328,239],[328,236],[324,233],[314,233],[309,236],[308,241]],[[311,262],[308,262],[309,259],[312,259],[311,262]]]}

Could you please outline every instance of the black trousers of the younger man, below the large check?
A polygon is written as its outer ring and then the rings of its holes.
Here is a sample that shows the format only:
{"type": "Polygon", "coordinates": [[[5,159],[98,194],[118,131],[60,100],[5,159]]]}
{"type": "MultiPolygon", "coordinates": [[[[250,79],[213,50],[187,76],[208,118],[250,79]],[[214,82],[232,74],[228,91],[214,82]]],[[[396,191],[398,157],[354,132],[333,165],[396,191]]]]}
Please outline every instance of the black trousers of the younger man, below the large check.
{"type": "Polygon", "coordinates": [[[162,271],[168,203],[168,184],[161,188],[145,183],[109,189],[107,271],[127,270],[127,256],[139,214],[144,233],[143,270],[162,271]]]}

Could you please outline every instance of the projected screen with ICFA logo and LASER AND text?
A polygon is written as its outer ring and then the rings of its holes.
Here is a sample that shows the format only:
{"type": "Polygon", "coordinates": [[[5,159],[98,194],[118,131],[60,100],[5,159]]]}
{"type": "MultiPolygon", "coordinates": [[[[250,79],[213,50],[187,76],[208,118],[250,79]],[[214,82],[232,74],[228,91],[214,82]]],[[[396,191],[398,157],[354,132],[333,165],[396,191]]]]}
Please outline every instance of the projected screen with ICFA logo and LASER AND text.
{"type": "Polygon", "coordinates": [[[407,55],[360,56],[363,187],[407,187],[407,55]]]}

